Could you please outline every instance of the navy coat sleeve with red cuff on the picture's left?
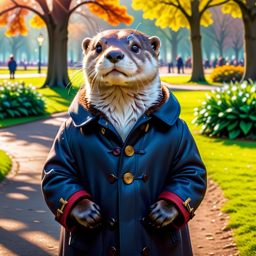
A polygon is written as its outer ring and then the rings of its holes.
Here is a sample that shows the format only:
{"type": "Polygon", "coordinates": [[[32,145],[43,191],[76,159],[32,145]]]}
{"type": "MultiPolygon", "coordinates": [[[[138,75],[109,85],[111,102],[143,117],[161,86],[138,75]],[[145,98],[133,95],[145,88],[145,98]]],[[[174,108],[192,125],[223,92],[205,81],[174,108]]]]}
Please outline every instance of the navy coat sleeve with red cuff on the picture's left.
{"type": "Polygon", "coordinates": [[[72,232],[76,227],[68,218],[72,206],[91,199],[79,182],[78,167],[68,144],[65,122],[60,126],[42,172],[42,192],[55,220],[72,232]]]}

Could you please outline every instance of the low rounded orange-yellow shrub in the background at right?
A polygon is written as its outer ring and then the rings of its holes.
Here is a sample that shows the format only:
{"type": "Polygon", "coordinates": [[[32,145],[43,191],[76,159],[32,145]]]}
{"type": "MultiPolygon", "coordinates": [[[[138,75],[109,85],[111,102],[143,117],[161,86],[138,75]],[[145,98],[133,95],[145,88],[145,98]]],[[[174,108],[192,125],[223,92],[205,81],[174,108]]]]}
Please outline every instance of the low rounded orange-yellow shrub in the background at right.
{"type": "Polygon", "coordinates": [[[240,81],[243,77],[244,68],[241,66],[220,66],[214,68],[210,75],[210,80],[212,82],[229,82],[231,81],[240,81]]]}

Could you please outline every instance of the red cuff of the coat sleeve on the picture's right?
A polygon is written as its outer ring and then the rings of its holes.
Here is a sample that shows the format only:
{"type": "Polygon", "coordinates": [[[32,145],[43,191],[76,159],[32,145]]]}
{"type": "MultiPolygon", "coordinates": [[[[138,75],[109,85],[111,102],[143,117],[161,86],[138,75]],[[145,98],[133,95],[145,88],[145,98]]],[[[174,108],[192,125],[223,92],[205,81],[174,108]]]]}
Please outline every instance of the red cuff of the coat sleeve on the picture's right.
{"type": "Polygon", "coordinates": [[[190,214],[189,214],[188,210],[185,208],[185,206],[182,204],[184,202],[183,199],[181,199],[175,193],[172,193],[169,191],[162,192],[161,195],[158,197],[158,200],[161,200],[161,199],[166,199],[168,201],[171,201],[179,209],[180,213],[183,216],[184,222],[182,225],[179,225],[179,226],[177,226],[173,223],[172,223],[172,225],[174,227],[176,227],[177,229],[183,228],[190,220],[190,214]]]}

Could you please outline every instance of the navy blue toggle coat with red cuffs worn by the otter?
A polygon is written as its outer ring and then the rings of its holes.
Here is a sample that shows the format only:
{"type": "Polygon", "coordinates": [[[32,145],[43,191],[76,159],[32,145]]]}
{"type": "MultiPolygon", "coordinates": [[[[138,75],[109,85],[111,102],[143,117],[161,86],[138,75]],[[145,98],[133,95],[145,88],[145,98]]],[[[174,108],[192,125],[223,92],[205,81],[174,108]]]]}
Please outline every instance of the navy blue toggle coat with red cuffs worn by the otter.
{"type": "Polygon", "coordinates": [[[206,170],[188,126],[178,118],[177,99],[165,86],[162,90],[167,102],[141,116],[124,143],[104,115],[85,109],[76,95],[42,174],[44,199],[65,227],[60,255],[192,255],[187,228],[192,214],[183,202],[190,197],[190,207],[198,208],[206,170]],[[131,156],[127,146],[134,149],[131,156]],[[126,173],[134,176],[130,184],[126,173]],[[68,218],[83,198],[100,207],[100,228],[87,229],[68,218]],[[159,199],[176,205],[182,223],[159,229],[143,224],[149,206],[159,199]]]}

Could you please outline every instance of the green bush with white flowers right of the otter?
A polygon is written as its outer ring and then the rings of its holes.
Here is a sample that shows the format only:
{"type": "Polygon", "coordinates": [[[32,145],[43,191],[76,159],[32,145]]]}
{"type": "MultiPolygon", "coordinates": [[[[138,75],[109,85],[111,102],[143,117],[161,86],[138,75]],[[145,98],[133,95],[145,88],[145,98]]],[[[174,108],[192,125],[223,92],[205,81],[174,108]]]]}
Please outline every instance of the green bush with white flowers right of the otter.
{"type": "Polygon", "coordinates": [[[194,109],[192,123],[203,124],[209,136],[256,139],[256,84],[231,82],[206,93],[201,107],[194,109]]]}

